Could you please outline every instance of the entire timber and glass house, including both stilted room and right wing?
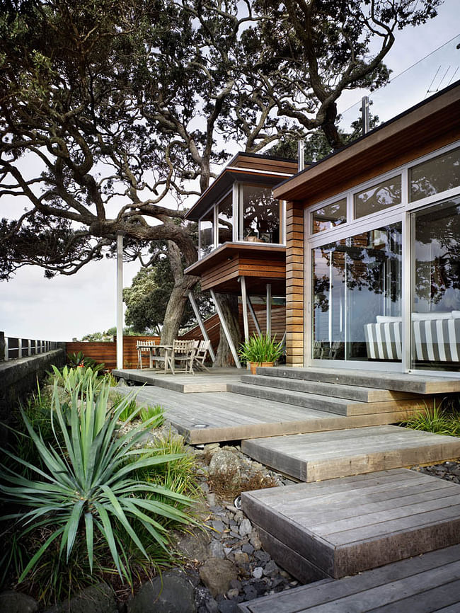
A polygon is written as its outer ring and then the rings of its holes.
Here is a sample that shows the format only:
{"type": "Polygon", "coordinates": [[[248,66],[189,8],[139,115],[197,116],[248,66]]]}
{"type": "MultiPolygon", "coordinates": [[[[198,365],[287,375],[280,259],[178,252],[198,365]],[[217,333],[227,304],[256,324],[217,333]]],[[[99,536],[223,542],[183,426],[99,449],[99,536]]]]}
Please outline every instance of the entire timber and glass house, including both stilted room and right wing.
{"type": "Polygon", "coordinates": [[[246,336],[248,294],[285,296],[287,365],[458,372],[459,112],[457,82],[296,174],[238,154],[187,272],[241,293],[246,336]]]}

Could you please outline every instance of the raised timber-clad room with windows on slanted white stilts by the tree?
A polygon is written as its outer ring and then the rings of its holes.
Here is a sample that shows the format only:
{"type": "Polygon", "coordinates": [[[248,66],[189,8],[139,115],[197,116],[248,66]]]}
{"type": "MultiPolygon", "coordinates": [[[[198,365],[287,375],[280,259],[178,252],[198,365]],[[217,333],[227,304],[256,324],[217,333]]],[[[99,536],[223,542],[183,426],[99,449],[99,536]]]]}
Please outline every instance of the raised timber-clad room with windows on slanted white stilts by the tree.
{"type": "Polygon", "coordinates": [[[198,222],[199,259],[185,273],[200,277],[218,311],[215,294],[242,297],[245,338],[249,316],[260,328],[251,297],[263,298],[267,305],[270,331],[272,298],[286,295],[286,211],[284,202],[272,197],[272,188],[296,172],[296,161],[238,153],[186,216],[198,222]]]}

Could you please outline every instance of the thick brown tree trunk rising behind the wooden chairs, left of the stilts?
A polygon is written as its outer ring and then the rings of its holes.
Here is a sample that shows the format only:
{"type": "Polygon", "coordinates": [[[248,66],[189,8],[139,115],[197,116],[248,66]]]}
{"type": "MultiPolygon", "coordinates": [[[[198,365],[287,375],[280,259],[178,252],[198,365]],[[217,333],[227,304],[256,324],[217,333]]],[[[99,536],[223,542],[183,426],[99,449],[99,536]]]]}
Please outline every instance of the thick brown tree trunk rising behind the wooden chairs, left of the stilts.
{"type": "Polygon", "coordinates": [[[173,241],[168,241],[168,256],[174,276],[174,287],[166,307],[163,328],[161,328],[161,345],[172,345],[173,340],[178,338],[180,321],[182,321],[185,304],[188,301],[188,292],[199,280],[199,277],[183,274],[180,251],[173,241]]]}

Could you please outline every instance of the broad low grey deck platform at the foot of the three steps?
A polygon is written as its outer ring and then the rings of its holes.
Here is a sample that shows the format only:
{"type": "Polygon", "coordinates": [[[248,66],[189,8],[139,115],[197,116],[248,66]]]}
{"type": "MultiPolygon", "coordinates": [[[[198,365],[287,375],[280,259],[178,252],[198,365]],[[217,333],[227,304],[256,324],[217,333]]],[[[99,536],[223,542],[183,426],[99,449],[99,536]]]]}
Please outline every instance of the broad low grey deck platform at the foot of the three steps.
{"type": "Polygon", "coordinates": [[[347,417],[275,401],[254,401],[224,391],[185,395],[151,385],[115,390],[120,394],[135,394],[138,403],[163,406],[166,418],[192,445],[398,423],[410,414],[398,410],[347,417]]]}

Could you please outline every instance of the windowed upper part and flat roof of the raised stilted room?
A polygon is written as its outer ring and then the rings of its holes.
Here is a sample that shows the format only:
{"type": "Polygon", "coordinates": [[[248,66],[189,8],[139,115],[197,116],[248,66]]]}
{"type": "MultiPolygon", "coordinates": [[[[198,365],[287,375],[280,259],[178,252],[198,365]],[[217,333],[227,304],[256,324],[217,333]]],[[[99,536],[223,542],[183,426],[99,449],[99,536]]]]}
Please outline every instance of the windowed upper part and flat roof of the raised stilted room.
{"type": "Polygon", "coordinates": [[[272,188],[297,173],[297,161],[238,153],[186,218],[199,224],[199,258],[231,244],[283,245],[284,203],[272,188]]]}

